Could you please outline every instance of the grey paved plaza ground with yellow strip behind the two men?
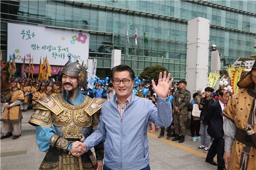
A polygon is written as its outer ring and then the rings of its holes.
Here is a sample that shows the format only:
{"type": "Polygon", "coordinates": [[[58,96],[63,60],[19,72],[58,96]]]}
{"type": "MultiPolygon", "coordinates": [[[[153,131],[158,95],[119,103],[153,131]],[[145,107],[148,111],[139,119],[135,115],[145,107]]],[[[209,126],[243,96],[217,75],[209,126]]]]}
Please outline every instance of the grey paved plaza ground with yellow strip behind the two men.
{"type": "MultiPolygon", "coordinates": [[[[45,153],[38,149],[34,126],[28,124],[33,111],[22,112],[21,137],[0,140],[1,170],[38,170],[45,153]]],[[[2,124],[2,122],[1,122],[2,124]]],[[[166,132],[166,131],[165,131],[166,132]]],[[[200,141],[190,140],[189,131],[185,142],[159,139],[159,131],[148,133],[151,170],[216,170],[217,167],[205,162],[206,153],[196,150],[200,141]]],[[[216,160],[215,160],[216,161],[216,160]]]]}

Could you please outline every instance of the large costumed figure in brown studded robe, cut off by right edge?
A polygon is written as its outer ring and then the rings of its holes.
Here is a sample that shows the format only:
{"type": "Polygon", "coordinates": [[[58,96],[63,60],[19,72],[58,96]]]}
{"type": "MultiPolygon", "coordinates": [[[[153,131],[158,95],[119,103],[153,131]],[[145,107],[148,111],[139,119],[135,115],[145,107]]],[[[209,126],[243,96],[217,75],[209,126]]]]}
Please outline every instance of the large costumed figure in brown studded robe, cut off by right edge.
{"type": "Polygon", "coordinates": [[[235,93],[223,110],[227,120],[224,160],[231,152],[230,170],[256,168],[256,62],[252,70],[237,83],[243,90],[235,93]]]}

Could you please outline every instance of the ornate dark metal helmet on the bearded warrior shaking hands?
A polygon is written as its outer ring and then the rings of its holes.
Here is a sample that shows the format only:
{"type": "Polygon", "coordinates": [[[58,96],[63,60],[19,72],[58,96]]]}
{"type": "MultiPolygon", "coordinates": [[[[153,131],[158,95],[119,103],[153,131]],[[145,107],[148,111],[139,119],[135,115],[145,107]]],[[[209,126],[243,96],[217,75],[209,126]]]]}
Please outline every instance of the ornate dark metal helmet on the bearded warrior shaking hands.
{"type": "Polygon", "coordinates": [[[78,62],[73,62],[73,63],[67,63],[60,75],[60,80],[62,79],[63,74],[67,76],[74,76],[78,79],[78,83],[80,86],[83,86],[86,83],[86,78],[87,78],[87,70],[88,68],[83,65],[80,65],[78,62]]]}

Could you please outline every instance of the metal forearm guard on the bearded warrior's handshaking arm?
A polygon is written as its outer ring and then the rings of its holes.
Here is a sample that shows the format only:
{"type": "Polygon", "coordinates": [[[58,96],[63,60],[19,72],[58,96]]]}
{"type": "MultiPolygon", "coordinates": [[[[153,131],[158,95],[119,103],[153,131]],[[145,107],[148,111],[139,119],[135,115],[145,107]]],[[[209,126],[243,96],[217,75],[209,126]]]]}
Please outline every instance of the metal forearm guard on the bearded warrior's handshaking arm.
{"type": "Polygon", "coordinates": [[[50,140],[51,147],[60,150],[61,152],[68,153],[68,146],[71,144],[67,139],[64,137],[60,137],[59,135],[53,135],[50,140]]]}

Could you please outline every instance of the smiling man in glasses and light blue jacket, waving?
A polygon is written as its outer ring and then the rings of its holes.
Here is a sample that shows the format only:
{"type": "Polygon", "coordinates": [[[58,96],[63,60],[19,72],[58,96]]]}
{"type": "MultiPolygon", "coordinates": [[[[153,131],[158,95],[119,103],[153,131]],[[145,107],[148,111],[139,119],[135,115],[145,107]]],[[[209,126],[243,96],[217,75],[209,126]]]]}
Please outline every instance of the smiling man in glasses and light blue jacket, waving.
{"type": "MultiPolygon", "coordinates": [[[[135,73],[128,65],[115,66],[110,73],[115,96],[102,106],[100,122],[84,144],[87,150],[105,139],[103,170],[150,170],[147,128],[148,121],[168,127],[172,122],[172,108],[168,89],[170,80],[166,72],[159,73],[158,84],[152,80],[157,95],[157,107],[132,92],[135,73]]],[[[74,146],[84,146],[74,142],[74,146]]],[[[80,156],[81,153],[72,153],[80,156]]]]}

